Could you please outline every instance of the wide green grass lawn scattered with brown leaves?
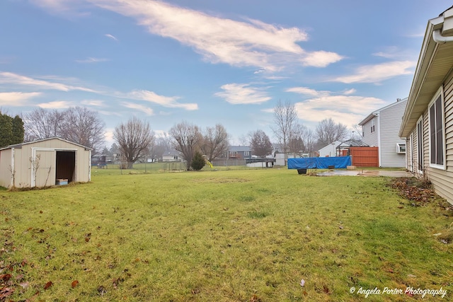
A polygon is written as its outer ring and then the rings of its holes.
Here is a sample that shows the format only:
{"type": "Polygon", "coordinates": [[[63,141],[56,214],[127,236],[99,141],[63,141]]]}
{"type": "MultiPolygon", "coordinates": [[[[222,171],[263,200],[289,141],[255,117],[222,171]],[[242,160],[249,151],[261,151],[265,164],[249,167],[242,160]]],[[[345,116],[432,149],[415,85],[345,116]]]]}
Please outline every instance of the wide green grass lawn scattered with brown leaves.
{"type": "Polygon", "coordinates": [[[433,236],[453,211],[412,207],[389,178],[125,172],[0,191],[0,301],[453,299],[452,245],[433,236]]]}

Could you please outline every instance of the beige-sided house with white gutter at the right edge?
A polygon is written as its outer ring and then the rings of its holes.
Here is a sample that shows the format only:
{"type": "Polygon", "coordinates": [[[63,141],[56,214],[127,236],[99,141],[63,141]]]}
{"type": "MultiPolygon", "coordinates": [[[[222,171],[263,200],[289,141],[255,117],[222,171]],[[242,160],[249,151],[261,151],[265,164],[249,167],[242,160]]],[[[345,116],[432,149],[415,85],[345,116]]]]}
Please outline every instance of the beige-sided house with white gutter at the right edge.
{"type": "Polygon", "coordinates": [[[428,21],[399,135],[408,170],[453,204],[453,6],[428,21]]]}

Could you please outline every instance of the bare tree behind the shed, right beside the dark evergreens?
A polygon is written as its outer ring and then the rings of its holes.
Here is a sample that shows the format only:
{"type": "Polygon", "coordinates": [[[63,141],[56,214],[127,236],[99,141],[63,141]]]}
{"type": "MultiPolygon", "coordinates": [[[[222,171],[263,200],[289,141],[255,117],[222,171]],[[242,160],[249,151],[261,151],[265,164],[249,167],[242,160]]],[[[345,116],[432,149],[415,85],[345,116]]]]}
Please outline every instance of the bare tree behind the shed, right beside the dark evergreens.
{"type": "Polygon", "coordinates": [[[22,117],[25,128],[24,141],[47,139],[59,136],[62,128],[64,112],[58,110],[45,110],[37,108],[22,117]]]}

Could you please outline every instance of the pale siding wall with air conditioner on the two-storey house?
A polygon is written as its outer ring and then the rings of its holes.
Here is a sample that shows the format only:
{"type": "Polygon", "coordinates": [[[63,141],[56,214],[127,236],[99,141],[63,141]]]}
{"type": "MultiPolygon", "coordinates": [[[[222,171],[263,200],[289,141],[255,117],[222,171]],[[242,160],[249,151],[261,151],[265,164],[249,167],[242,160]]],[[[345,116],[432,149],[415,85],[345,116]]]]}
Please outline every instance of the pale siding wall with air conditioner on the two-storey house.
{"type": "Polygon", "coordinates": [[[406,154],[397,153],[396,144],[405,143],[398,137],[401,127],[401,117],[406,108],[406,101],[399,101],[396,105],[379,112],[379,153],[381,167],[405,167],[406,154]]]}

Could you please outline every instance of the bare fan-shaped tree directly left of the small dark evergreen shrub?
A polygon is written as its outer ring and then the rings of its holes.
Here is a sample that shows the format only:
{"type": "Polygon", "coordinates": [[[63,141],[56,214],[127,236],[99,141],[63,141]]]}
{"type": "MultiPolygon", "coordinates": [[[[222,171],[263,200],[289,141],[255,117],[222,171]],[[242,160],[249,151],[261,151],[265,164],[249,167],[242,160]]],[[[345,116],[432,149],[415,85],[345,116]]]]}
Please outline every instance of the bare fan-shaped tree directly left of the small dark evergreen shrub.
{"type": "Polygon", "coordinates": [[[174,140],[173,148],[183,153],[186,168],[190,170],[192,158],[195,155],[195,151],[200,149],[202,141],[200,129],[195,124],[183,121],[171,127],[169,133],[174,140]]]}

